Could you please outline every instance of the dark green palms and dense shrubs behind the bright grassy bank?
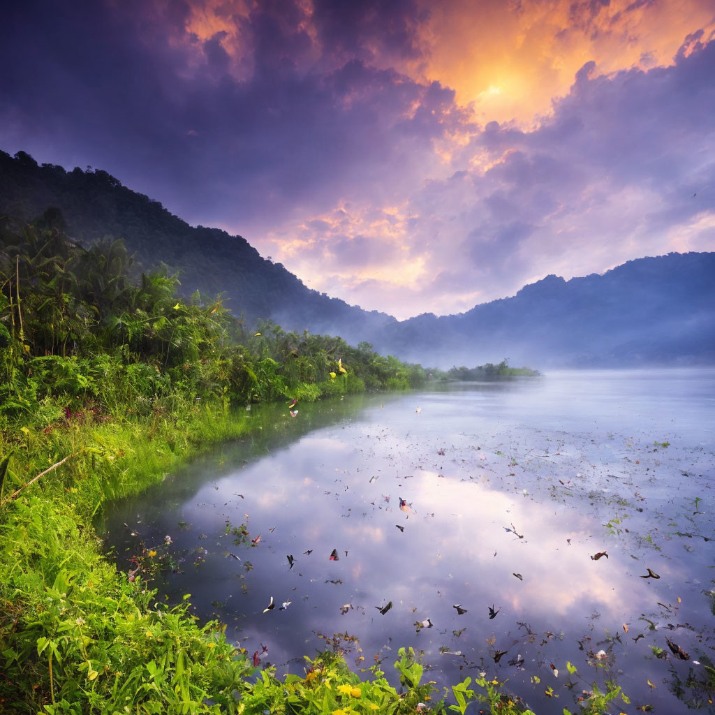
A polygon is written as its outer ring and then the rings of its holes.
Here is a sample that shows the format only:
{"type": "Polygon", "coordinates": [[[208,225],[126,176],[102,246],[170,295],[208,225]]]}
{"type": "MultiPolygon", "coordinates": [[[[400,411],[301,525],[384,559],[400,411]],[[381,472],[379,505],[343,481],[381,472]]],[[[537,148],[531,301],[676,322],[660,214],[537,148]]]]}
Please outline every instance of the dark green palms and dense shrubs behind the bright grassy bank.
{"type": "Polygon", "coordinates": [[[0,222],[0,427],[46,428],[67,410],[147,417],[187,400],[315,400],[425,380],[366,342],[249,327],[220,298],[181,300],[165,267],[135,277],[121,240],[85,249],[53,212],[43,222],[0,222]]]}

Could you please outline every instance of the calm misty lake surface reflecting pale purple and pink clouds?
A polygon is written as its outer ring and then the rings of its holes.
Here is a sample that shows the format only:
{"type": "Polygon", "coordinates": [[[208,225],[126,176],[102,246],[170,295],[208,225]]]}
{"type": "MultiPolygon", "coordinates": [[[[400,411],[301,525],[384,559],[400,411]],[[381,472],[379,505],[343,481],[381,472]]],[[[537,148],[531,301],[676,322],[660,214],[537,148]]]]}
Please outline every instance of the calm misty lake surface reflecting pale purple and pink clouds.
{"type": "Polygon", "coordinates": [[[226,621],[248,651],[267,645],[279,672],[320,649],[317,633],[347,632],[363,666],[391,666],[412,645],[435,680],[486,671],[536,711],[561,713],[585,686],[561,688],[566,660],[593,681],[588,651],[604,649],[634,704],[684,711],[669,669],[697,666],[651,646],[667,651],[668,636],[705,661],[714,645],[711,544],[676,535],[713,531],[713,377],[566,373],[300,405],[296,420],[276,413],[272,434],[117,507],[110,540],[127,568],[123,523],[147,544],[172,535],[185,561],[167,578],[170,598],[192,593],[197,613],[226,621]],[[261,541],[234,546],[226,523],[246,518],[261,541]],[[646,568],[661,578],[640,578],[646,568]],[[262,613],[271,596],[290,606],[262,613]],[[490,619],[488,606],[501,611],[490,619]],[[561,698],[544,699],[545,686],[561,698]]]}

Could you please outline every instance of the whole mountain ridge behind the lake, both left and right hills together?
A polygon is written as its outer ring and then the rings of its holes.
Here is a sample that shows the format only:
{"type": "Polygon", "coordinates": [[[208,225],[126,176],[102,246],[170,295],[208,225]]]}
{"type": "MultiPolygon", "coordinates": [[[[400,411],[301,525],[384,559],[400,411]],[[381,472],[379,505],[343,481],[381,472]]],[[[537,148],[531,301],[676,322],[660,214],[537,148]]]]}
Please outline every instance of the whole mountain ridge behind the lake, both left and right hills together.
{"type": "Polygon", "coordinates": [[[513,297],[459,315],[398,322],[307,288],[242,237],[191,227],[107,172],[39,165],[0,151],[0,213],[33,220],[58,207],[69,234],[92,242],[122,237],[144,267],[182,270],[184,292],[224,292],[249,322],[368,340],[383,353],[425,365],[715,364],[715,253],[640,258],[603,275],[549,275],[513,297]]]}

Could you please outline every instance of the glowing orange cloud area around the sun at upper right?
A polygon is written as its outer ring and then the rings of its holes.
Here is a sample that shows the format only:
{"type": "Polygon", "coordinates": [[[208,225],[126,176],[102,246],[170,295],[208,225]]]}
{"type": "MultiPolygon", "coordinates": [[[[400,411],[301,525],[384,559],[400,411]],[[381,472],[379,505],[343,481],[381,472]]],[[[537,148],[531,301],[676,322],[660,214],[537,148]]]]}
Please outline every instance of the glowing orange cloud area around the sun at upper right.
{"type": "Polygon", "coordinates": [[[455,89],[482,122],[530,126],[586,62],[602,74],[669,65],[686,36],[715,29],[710,0],[424,1],[428,60],[401,69],[455,89]]]}

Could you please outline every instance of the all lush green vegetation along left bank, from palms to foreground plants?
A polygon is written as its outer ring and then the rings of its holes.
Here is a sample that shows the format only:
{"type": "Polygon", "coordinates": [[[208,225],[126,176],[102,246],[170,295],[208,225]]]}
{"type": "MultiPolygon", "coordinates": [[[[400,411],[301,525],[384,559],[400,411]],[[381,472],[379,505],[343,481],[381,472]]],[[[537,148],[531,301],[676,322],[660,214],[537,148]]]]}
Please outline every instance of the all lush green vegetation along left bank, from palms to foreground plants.
{"type": "MultiPolygon", "coordinates": [[[[408,388],[422,368],[366,343],[249,328],[221,300],[180,300],[169,272],[134,280],[122,242],[86,250],[53,212],[35,227],[4,220],[0,250],[2,712],[464,713],[477,699],[525,711],[482,678],[479,691],[453,686],[455,704],[433,699],[409,650],[395,664],[399,689],[378,666],[350,671],[339,651],[305,676],[257,674],[220,623],[157,601],[150,576],[164,545],[119,573],[92,528],[107,500],[245,433],[250,403],[408,388]]],[[[600,711],[599,697],[582,711],[600,711]]]]}

